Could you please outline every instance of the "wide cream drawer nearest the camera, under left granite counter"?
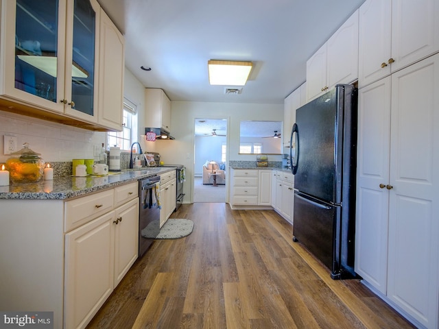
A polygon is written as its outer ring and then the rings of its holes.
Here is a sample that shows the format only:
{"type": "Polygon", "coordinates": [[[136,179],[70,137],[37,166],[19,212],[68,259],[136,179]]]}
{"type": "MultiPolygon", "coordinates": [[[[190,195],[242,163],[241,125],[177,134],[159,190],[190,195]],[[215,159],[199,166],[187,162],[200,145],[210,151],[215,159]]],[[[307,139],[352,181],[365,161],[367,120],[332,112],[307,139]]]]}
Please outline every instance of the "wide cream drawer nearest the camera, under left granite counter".
{"type": "Polygon", "coordinates": [[[80,197],[64,204],[64,232],[78,228],[112,210],[113,189],[80,197]]]}

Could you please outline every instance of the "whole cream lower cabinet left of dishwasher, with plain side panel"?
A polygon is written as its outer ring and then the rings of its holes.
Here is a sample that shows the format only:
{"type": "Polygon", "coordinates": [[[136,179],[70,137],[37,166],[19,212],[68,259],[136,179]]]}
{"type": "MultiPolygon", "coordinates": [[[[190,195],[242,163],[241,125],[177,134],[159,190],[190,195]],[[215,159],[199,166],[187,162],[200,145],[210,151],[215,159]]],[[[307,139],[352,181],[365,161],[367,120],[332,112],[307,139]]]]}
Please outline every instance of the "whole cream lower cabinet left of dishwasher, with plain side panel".
{"type": "Polygon", "coordinates": [[[137,259],[138,189],[1,199],[0,309],[51,310],[54,328],[85,328],[137,259]]]}

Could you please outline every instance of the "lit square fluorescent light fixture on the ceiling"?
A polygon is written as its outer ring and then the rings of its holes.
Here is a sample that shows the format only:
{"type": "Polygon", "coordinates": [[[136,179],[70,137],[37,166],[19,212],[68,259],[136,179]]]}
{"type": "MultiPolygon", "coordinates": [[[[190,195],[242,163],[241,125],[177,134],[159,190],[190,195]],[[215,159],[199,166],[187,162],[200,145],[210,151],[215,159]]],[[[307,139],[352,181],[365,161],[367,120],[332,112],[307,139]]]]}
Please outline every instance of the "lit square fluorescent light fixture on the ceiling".
{"type": "Polygon", "coordinates": [[[252,70],[252,62],[209,60],[209,83],[213,85],[244,86],[252,70]]]}

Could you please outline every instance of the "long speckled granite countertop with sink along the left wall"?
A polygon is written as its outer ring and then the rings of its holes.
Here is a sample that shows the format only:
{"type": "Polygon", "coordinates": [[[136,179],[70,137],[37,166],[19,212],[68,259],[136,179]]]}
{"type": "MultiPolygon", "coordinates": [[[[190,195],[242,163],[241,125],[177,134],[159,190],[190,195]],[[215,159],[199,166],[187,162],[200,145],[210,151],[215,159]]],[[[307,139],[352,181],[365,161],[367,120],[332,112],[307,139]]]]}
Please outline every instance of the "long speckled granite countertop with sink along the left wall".
{"type": "Polygon", "coordinates": [[[102,176],[55,177],[37,183],[0,186],[0,199],[69,199],[107,188],[135,182],[152,175],[175,170],[176,167],[155,167],[144,169],[124,169],[120,173],[102,176]]]}

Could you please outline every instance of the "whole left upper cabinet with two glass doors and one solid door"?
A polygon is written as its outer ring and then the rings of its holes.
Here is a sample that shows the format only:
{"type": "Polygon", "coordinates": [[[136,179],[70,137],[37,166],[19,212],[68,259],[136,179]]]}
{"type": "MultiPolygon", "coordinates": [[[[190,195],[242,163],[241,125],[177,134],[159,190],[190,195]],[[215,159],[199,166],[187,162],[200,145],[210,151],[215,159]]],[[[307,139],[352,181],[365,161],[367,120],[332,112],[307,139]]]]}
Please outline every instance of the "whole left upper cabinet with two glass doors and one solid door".
{"type": "Polygon", "coordinates": [[[1,105],[88,129],[120,130],[123,38],[114,25],[109,34],[110,23],[97,0],[2,1],[1,105]],[[103,88],[99,81],[106,82],[103,88]],[[101,93],[105,112],[98,115],[101,93]]]}

